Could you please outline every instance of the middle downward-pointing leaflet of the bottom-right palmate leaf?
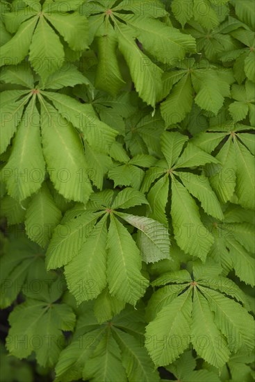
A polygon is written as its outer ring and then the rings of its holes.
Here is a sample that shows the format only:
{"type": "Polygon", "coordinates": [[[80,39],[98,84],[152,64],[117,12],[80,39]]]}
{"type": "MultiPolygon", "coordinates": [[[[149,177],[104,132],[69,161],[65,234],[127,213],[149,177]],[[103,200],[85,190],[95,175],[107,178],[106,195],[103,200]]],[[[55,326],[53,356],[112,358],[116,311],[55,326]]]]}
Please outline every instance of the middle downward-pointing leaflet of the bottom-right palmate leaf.
{"type": "Polygon", "coordinates": [[[227,340],[217,329],[214,314],[203,295],[197,292],[197,288],[194,289],[191,342],[197,355],[217,369],[229,360],[227,340]],[[201,333],[203,333],[202,338],[201,333]]]}

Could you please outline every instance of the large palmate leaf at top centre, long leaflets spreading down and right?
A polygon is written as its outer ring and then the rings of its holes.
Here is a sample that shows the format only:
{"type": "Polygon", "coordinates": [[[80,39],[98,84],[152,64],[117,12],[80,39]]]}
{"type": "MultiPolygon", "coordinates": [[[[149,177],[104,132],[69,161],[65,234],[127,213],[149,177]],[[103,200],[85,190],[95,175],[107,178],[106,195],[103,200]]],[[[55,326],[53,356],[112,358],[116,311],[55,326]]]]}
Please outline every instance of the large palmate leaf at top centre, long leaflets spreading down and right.
{"type": "Polygon", "coordinates": [[[144,53],[142,48],[138,47],[135,40],[138,40],[142,47],[145,47],[145,51],[148,51],[156,60],[165,63],[167,55],[171,59],[182,59],[187,51],[195,52],[195,39],[156,19],[159,15],[167,14],[159,1],[154,2],[153,6],[148,4],[147,9],[138,1],[132,3],[121,1],[120,4],[112,4],[110,8],[107,3],[95,1],[94,7],[94,10],[97,9],[97,15],[90,16],[90,25],[94,23],[97,25],[93,31],[99,43],[97,87],[110,94],[118,92],[122,87],[122,74],[115,53],[117,42],[129,67],[135,89],[143,101],[155,107],[156,99],[161,92],[163,71],[144,53]],[[112,56],[110,60],[108,56],[106,57],[106,53],[112,56]],[[110,79],[112,79],[111,82],[110,79]]]}

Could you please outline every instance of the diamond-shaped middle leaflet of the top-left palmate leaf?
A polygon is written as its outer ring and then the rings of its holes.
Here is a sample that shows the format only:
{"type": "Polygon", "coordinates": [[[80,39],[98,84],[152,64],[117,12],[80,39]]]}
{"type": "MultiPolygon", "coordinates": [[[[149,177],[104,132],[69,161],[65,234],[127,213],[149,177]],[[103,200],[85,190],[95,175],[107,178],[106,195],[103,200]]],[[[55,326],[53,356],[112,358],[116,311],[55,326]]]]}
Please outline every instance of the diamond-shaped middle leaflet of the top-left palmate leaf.
{"type": "Polygon", "coordinates": [[[65,52],[58,35],[41,16],[33,33],[29,53],[35,72],[44,82],[62,66],[64,58],[65,52]]]}

